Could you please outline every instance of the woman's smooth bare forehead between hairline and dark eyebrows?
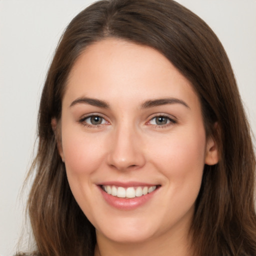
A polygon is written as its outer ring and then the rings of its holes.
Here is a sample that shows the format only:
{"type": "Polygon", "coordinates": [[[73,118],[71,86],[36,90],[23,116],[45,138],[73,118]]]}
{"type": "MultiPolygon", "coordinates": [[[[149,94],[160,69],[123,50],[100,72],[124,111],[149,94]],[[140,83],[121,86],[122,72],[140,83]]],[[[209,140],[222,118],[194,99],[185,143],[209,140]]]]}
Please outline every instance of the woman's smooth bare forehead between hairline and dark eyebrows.
{"type": "Polygon", "coordinates": [[[121,39],[89,45],[75,61],[66,95],[122,100],[154,97],[195,98],[191,83],[159,51],[121,39]]]}

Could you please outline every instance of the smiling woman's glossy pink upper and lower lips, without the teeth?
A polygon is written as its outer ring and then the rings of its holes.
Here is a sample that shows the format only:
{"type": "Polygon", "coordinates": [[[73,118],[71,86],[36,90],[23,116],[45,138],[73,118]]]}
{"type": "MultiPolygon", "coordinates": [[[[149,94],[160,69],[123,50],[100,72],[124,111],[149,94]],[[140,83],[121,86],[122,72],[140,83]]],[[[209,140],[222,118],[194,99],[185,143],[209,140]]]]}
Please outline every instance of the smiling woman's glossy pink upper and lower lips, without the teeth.
{"type": "Polygon", "coordinates": [[[120,209],[120,210],[132,210],[132,209],[135,209],[143,204],[145,204],[147,201],[150,200],[150,198],[152,198],[155,194],[155,192],[157,192],[159,186],[157,186],[157,188],[150,192],[150,193],[147,193],[147,194],[144,194],[144,195],[141,195],[141,196],[138,196],[138,197],[133,197],[133,198],[122,198],[122,197],[117,197],[117,196],[113,196],[111,194],[108,194],[107,192],[105,192],[103,189],[102,189],[102,185],[114,185],[116,187],[124,187],[124,188],[127,188],[127,187],[138,187],[138,186],[147,186],[147,187],[150,187],[150,186],[154,186],[152,184],[148,184],[148,183],[141,183],[141,182],[127,182],[127,183],[122,183],[122,182],[103,182],[101,183],[100,185],[98,185],[98,188],[103,196],[103,198],[105,199],[105,201],[117,208],[117,209],[120,209]]]}

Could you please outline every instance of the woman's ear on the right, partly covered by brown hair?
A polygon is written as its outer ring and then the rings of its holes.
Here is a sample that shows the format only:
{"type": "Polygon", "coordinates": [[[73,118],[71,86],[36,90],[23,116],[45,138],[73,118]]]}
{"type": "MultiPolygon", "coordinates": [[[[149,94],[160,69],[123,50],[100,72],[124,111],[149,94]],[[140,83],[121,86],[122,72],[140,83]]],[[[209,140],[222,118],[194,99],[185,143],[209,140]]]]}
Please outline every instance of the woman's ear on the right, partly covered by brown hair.
{"type": "MultiPolygon", "coordinates": [[[[218,124],[214,124],[214,129],[218,129],[218,124]]],[[[205,164],[213,165],[218,162],[218,147],[213,136],[208,136],[206,140],[205,164]]]]}

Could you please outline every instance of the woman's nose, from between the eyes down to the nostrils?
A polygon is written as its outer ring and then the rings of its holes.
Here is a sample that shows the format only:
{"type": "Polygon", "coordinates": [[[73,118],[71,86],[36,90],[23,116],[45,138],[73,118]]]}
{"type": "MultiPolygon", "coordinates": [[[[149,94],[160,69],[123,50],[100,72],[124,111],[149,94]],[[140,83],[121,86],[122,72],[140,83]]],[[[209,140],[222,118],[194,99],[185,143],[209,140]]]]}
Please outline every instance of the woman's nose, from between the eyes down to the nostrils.
{"type": "Polygon", "coordinates": [[[141,133],[132,125],[122,125],[112,132],[108,165],[118,170],[137,169],[145,164],[141,133]]]}

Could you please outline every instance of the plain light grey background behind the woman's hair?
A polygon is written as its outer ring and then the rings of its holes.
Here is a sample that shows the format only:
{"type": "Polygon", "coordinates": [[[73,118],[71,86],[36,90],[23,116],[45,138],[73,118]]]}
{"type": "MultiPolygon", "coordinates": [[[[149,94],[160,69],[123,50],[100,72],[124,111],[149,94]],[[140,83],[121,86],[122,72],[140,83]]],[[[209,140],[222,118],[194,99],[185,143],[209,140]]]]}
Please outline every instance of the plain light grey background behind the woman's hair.
{"type": "MultiPolygon", "coordinates": [[[[256,0],[178,0],[204,19],[224,45],[256,130],[256,0]]],[[[0,255],[21,232],[20,189],[35,140],[40,91],[57,41],[92,0],[0,0],[0,255]]]]}

